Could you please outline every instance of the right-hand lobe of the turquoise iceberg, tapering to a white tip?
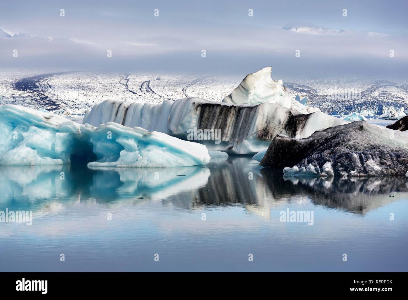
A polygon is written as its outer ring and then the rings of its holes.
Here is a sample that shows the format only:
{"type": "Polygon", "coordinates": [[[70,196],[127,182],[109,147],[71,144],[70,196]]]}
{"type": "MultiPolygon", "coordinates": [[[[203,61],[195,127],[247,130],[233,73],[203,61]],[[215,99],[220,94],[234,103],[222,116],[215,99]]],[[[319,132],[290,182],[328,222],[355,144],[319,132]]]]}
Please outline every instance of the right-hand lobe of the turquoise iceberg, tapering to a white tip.
{"type": "Polygon", "coordinates": [[[88,166],[182,167],[207,164],[210,160],[202,144],[180,140],[162,132],[126,127],[108,122],[95,128],[84,126],[98,160],[88,166]],[[111,133],[111,139],[107,139],[111,133]]]}

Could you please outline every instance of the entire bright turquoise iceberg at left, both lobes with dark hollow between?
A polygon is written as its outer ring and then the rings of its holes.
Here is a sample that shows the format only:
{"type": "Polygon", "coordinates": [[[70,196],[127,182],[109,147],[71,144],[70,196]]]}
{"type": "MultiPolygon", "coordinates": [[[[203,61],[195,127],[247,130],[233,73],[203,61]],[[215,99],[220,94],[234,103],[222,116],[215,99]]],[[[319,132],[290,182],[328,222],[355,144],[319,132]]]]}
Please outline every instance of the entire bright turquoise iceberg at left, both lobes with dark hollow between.
{"type": "Polygon", "coordinates": [[[199,143],[107,122],[98,127],[17,105],[0,107],[0,164],[182,167],[207,164],[199,143]]]}

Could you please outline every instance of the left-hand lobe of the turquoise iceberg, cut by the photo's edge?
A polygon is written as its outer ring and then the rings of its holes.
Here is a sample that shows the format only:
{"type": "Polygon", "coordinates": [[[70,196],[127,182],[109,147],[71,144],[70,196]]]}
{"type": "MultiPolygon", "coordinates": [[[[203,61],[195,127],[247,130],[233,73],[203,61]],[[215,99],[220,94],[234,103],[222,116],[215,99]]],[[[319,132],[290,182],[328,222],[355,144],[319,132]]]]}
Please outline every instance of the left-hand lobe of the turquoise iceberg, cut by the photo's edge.
{"type": "Polygon", "coordinates": [[[0,164],[67,164],[94,157],[80,124],[17,105],[0,107],[0,164]]]}

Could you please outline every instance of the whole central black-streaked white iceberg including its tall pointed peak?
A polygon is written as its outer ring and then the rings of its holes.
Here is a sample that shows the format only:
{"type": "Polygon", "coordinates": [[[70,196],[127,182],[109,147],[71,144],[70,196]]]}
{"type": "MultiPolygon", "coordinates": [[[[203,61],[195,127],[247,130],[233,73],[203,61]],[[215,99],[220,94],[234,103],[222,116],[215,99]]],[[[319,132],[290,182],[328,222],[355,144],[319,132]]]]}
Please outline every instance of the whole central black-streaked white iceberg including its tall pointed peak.
{"type": "Polygon", "coordinates": [[[197,97],[161,104],[105,100],[88,109],[82,123],[142,127],[193,140],[210,151],[252,155],[266,149],[277,134],[306,138],[316,130],[346,123],[309,107],[307,97],[292,99],[282,80],[271,78],[271,70],[248,74],[222,102],[197,97]]]}

